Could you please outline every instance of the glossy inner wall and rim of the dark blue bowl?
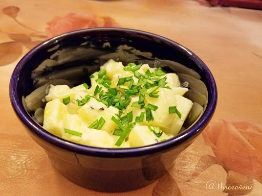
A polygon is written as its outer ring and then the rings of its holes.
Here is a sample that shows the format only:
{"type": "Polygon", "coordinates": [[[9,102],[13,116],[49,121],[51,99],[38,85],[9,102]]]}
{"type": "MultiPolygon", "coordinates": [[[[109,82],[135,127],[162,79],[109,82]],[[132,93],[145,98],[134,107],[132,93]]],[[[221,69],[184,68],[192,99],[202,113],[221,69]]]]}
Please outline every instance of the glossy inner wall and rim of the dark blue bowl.
{"type": "MultiPolygon", "coordinates": [[[[147,150],[154,152],[159,148],[164,150],[178,145],[196,135],[210,120],[216,105],[215,82],[209,69],[196,55],[184,46],[161,36],[117,28],[71,32],[33,48],[18,63],[10,82],[11,102],[18,117],[37,135],[63,148],[79,150],[80,153],[86,153],[86,150],[103,152],[103,149],[65,142],[60,138],[53,140],[56,136],[43,130],[30,117],[34,112],[30,111],[22,100],[47,83],[68,84],[71,87],[83,82],[90,84],[89,76],[109,59],[121,61],[123,65],[132,62],[147,63],[151,67],[162,67],[166,72],[176,72],[181,83],[190,81],[188,87],[191,93],[185,94],[185,97],[204,108],[202,117],[188,123],[188,129],[177,137],[157,144],[158,147],[152,145],[151,148],[137,148],[140,150],[133,150],[133,154],[141,154],[147,150]]],[[[112,152],[121,150],[132,151],[112,149],[112,152]]]]}

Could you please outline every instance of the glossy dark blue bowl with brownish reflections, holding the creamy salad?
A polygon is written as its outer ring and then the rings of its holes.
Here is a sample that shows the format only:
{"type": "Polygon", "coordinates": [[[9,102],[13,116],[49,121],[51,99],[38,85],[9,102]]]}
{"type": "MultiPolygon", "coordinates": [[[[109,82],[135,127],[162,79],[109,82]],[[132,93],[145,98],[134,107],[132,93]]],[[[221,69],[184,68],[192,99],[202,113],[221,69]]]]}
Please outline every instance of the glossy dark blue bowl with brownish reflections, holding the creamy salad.
{"type": "MultiPolygon", "coordinates": [[[[166,65],[163,69],[178,73],[187,71],[187,68],[176,69],[171,65],[166,65]]],[[[178,155],[208,124],[216,107],[217,90],[208,67],[184,46],[147,32],[95,28],[56,36],[33,48],[13,71],[10,100],[28,134],[45,149],[51,163],[64,177],[93,190],[126,191],[154,182],[170,168],[178,155]],[[105,42],[109,42],[111,47],[107,47],[105,42]],[[116,60],[125,63],[148,62],[153,66],[158,64],[158,59],[167,59],[193,69],[201,77],[206,85],[208,101],[202,117],[193,126],[158,144],[130,149],[103,149],[56,137],[32,119],[32,113],[24,107],[24,96],[50,79],[65,79],[72,84],[89,82],[87,75],[99,69],[99,63],[107,58],[105,54],[115,52],[117,46],[123,44],[133,48],[124,48],[122,53],[127,56],[113,55],[116,60]],[[141,52],[150,52],[152,57],[148,53],[139,53],[134,48],[141,52]]]]}

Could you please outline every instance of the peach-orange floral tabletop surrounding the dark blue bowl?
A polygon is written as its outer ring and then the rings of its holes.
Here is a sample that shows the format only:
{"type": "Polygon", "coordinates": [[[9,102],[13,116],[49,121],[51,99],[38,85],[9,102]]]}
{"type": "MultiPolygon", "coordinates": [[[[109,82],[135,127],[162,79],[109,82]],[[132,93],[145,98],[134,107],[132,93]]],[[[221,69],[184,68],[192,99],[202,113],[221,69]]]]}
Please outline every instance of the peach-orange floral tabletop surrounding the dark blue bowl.
{"type": "MultiPolygon", "coordinates": [[[[262,12],[258,10],[207,7],[196,1],[182,0],[1,0],[0,195],[262,195],[262,146],[256,142],[260,140],[262,143],[261,126],[258,125],[262,124],[261,75],[262,12]],[[219,119],[224,119],[220,121],[222,127],[227,122],[238,121],[238,124],[230,125],[239,128],[237,133],[247,139],[248,146],[254,147],[250,150],[254,154],[248,155],[252,168],[244,165],[241,169],[237,164],[230,166],[215,146],[208,145],[207,136],[202,134],[180,155],[164,177],[139,190],[100,193],[63,178],[21,126],[12,110],[8,87],[19,59],[29,48],[47,39],[47,23],[55,16],[63,17],[69,13],[110,16],[123,28],[162,35],[197,54],[211,70],[219,92],[217,108],[207,131],[213,132],[211,128],[219,119]],[[252,126],[247,128],[246,125],[252,126]],[[246,136],[243,127],[255,135],[246,136]],[[210,162],[211,159],[203,162],[208,156],[217,158],[219,163],[210,162]],[[255,163],[252,162],[254,159],[255,163]],[[203,168],[198,166],[201,161],[203,168]],[[198,175],[195,175],[196,168],[198,175]],[[234,177],[238,180],[232,180],[234,177]],[[224,182],[224,185],[245,182],[252,185],[252,190],[223,192],[217,189],[210,192],[207,189],[210,180],[224,182]]],[[[224,131],[227,133],[228,127],[224,131]]],[[[235,152],[245,149],[246,144],[242,144],[236,145],[235,152]]],[[[231,159],[227,157],[227,160],[232,161],[235,152],[231,152],[231,159]]],[[[247,157],[243,159],[245,162],[247,157]]]]}

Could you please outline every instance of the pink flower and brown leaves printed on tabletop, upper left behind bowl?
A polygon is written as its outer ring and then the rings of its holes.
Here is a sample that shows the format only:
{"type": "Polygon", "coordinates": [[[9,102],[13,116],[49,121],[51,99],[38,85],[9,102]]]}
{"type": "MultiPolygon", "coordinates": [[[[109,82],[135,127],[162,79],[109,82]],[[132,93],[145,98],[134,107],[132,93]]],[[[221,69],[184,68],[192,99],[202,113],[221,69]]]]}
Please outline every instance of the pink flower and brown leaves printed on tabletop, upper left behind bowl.
{"type": "Polygon", "coordinates": [[[15,6],[8,6],[2,9],[3,14],[13,19],[17,25],[29,30],[28,34],[10,33],[0,30],[0,33],[7,34],[12,41],[0,43],[0,66],[15,62],[23,54],[23,46],[31,50],[33,47],[56,35],[70,31],[96,28],[96,27],[120,27],[110,16],[97,16],[95,14],[69,13],[65,16],[56,16],[47,22],[45,32],[37,31],[16,19],[20,9],[15,6]]]}

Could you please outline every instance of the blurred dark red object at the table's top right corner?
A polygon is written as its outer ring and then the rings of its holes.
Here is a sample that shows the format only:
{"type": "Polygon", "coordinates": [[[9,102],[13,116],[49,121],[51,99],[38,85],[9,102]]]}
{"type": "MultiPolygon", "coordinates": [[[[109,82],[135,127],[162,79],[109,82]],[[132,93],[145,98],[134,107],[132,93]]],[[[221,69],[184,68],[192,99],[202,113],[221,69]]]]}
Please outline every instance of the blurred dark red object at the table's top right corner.
{"type": "Polygon", "coordinates": [[[262,10],[262,0],[208,0],[212,6],[229,6],[262,10]]]}

